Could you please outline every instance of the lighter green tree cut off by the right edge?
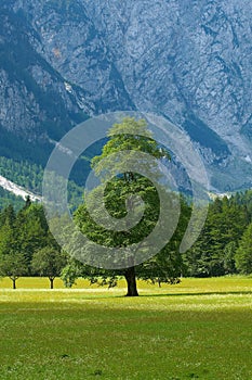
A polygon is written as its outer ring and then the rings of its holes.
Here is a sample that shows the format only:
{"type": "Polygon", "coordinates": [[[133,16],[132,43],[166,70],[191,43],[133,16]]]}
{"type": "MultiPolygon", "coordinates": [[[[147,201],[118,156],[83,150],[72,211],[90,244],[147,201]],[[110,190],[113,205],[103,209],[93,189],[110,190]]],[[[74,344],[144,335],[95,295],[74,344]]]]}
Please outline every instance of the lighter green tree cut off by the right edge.
{"type": "Polygon", "coordinates": [[[252,274],[252,224],[246,229],[235,254],[236,267],[243,275],[252,274]]]}

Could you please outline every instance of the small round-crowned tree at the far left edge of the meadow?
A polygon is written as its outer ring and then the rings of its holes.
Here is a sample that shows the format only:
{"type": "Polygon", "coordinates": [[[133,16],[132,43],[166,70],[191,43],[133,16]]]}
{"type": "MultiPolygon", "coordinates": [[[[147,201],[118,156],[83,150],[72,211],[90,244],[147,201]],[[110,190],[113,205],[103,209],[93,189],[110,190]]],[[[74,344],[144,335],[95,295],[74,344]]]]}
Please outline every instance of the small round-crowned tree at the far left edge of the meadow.
{"type": "Polygon", "coordinates": [[[10,253],[0,258],[0,275],[12,280],[13,289],[16,289],[16,280],[28,273],[26,258],[21,253],[10,253]]]}

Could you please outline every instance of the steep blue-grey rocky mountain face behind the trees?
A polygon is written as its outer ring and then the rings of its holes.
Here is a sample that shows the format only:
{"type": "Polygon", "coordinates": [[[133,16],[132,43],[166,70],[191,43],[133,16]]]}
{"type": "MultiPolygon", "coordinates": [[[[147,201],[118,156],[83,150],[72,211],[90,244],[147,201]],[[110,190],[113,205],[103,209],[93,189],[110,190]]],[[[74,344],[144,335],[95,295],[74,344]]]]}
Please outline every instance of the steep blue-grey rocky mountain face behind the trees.
{"type": "Polygon", "coordinates": [[[251,14],[249,0],[2,0],[0,132],[57,140],[85,114],[155,112],[189,134],[213,188],[251,187],[251,14]]]}

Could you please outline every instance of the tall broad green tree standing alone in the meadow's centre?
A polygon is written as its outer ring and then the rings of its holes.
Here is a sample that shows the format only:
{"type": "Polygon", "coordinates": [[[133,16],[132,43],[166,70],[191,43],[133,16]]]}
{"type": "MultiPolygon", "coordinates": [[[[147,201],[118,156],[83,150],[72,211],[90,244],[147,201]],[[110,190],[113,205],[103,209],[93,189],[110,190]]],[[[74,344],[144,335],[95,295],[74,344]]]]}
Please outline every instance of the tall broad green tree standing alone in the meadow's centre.
{"type": "MultiPolygon", "coordinates": [[[[90,216],[85,199],[84,204],[79,206],[75,213],[75,220],[81,231],[88,238],[90,238],[90,240],[93,240],[96,243],[105,246],[107,245],[123,248],[127,251],[128,245],[142,241],[142,239],[148,236],[148,233],[150,233],[150,231],[155,228],[160,212],[159,195],[154,183],[148,178],[131,170],[124,172],[122,162],[120,160],[115,161],[115,156],[112,154],[121,151],[136,151],[148,153],[156,159],[170,159],[170,155],[152,139],[152,135],[147,130],[146,122],[144,119],[136,121],[131,117],[124,118],[121,124],[115,124],[110,128],[108,138],[109,140],[104,145],[102,154],[100,156],[95,156],[92,160],[92,167],[96,174],[103,173],[105,179],[106,173],[108,173],[107,177],[110,175],[110,167],[114,169],[116,167],[117,173],[123,174],[117,175],[108,181],[104,192],[104,202],[106,208],[112,217],[118,219],[123,218],[127,213],[131,213],[132,210],[138,210],[141,207],[141,203],[137,201],[137,199],[131,199],[129,197],[129,194],[138,194],[145,203],[144,215],[141,221],[131,229],[121,231],[106,229],[103,226],[97,225],[97,223],[90,216]],[[128,132],[125,132],[125,130],[128,132]],[[129,132],[129,130],[131,132],[129,132]],[[104,159],[106,159],[106,166],[104,166],[104,159]]],[[[142,164],[147,167],[149,173],[151,173],[151,175],[156,177],[157,180],[159,180],[159,168],[157,164],[149,164],[144,160],[142,161],[142,164]]],[[[93,189],[88,195],[89,203],[95,204],[93,212],[96,215],[96,220],[98,220],[103,213],[101,208],[102,205],[95,203],[95,200],[101,191],[103,192],[103,189],[101,187],[97,187],[93,189]]],[[[165,191],[164,188],[163,191],[165,191]]],[[[177,195],[173,194],[173,198],[175,197],[177,195]]],[[[167,207],[169,210],[169,204],[167,204],[167,207]]],[[[90,250],[92,250],[92,244],[89,245],[89,243],[87,243],[83,248],[83,251],[89,254],[90,250]]],[[[165,246],[162,249],[159,255],[149,261],[149,265],[147,262],[135,266],[134,257],[131,255],[131,253],[129,253],[129,265],[125,269],[105,270],[95,269],[84,265],[82,266],[82,276],[89,277],[91,279],[91,282],[98,281],[98,278],[102,278],[102,284],[108,283],[109,286],[114,286],[117,281],[117,276],[123,275],[128,287],[127,295],[136,296],[138,295],[136,287],[137,276],[144,279],[147,279],[146,277],[151,279],[159,278],[161,281],[165,282],[175,281],[177,275],[181,271],[181,268],[178,268],[177,264],[178,262],[181,263],[181,261],[172,261],[171,255],[173,257],[178,255],[178,248],[177,251],[172,251],[171,253],[169,252],[169,246],[165,246]],[[170,266],[168,263],[170,263],[170,266]],[[176,265],[172,265],[172,263],[176,263],[176,265]],[[162,265],[163,268],[160,271],[162,265]],[[148,273],[148,275],[145,276],[143,273],[148,273]],[[160,276],[158,274],[160,274],[160,276]]],[[[70,273],[70,275],[72,277],[72,273],[70,273]]]]}

